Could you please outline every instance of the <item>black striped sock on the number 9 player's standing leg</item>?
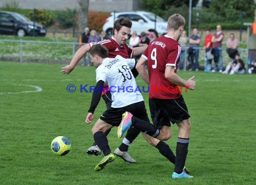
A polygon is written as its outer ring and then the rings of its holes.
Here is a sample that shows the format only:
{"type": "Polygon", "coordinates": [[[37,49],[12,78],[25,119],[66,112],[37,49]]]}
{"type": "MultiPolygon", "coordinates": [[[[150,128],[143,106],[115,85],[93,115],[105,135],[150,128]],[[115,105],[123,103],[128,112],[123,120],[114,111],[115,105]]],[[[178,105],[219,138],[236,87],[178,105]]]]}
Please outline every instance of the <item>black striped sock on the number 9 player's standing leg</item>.
{"type": "Polygon", "coordinates": [[[177,174],[182,173],[182,169],[185,166],[186,157],[188,154],[189,138],[178,137],[177,147],[176,147],[176,161],[174,172],[177,174]]]}

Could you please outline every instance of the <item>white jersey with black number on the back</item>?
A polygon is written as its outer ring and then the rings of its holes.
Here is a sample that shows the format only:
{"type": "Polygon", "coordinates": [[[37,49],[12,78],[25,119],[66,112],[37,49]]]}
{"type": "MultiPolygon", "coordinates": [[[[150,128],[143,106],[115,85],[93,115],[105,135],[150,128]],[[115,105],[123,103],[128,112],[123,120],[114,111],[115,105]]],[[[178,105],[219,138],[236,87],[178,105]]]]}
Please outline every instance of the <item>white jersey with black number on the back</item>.
{"type": "Polygon", "coordinates": [[[117,55],[115,58],[104,59],[97,67],[96,81],[103,80],[108,84],[113,100],[111,107],[120,108],[144,101],[130,70],[134,66],[133,58],[125,59],[117,55]]]}

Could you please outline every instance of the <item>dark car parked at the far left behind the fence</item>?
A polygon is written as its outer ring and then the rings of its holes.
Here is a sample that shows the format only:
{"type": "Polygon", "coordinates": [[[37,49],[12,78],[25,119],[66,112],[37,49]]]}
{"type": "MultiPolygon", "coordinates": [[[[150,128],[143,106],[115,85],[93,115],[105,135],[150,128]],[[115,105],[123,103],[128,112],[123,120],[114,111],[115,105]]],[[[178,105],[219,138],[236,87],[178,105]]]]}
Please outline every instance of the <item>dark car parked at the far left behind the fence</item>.
{"type": "Polygon", "coordinates": [[[15,13],[0,11],[0,34],[25,36],[45,36],[46,29],[43,25],[32,22],[29,18],[15,13]],[[34,32],[34,33],[33,33],[34,32]]]}

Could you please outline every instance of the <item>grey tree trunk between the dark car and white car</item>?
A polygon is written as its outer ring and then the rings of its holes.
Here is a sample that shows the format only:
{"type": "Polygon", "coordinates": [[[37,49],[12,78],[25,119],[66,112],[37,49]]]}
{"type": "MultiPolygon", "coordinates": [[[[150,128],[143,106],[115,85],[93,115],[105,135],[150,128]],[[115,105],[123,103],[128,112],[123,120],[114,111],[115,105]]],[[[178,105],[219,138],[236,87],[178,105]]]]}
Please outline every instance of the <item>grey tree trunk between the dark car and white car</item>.
{"type": "Polygon", "coordinates": [[[77,0],[79,4],[78,9],[78,31],[79,33],[84,32],[84,28],[88,26],[88,8],[89,0],[77,0]]]}

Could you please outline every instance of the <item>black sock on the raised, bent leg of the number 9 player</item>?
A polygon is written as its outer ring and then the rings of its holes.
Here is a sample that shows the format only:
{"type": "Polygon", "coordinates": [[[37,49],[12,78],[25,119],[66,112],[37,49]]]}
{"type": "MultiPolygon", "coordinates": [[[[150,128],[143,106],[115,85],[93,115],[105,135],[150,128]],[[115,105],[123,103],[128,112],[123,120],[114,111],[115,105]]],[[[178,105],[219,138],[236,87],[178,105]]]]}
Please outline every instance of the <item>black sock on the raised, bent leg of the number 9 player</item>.
{"type": "Polygon", "coordinates": [[[139,131],[150,135],[151,137],[157,137],[160,133],[160,129],[154,128],[153,124],[138,119],[134,116],[132,116],[132,126],[137,128],[139,131]]]}

